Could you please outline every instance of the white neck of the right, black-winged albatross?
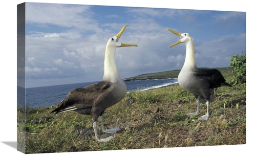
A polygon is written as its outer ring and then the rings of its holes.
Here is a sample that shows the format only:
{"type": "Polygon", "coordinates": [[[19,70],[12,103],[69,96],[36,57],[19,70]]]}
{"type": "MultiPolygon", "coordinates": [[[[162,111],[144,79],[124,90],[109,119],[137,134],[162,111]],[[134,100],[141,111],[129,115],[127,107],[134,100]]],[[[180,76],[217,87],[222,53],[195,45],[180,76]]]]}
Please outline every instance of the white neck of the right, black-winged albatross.
{"type": "Polygon", "coordinates": [[[186,44],[186,58],[185,58],[183,68],[197,69],[193,40],[189,38],[189,40],[186,41],[185,44],[186,44]]]}

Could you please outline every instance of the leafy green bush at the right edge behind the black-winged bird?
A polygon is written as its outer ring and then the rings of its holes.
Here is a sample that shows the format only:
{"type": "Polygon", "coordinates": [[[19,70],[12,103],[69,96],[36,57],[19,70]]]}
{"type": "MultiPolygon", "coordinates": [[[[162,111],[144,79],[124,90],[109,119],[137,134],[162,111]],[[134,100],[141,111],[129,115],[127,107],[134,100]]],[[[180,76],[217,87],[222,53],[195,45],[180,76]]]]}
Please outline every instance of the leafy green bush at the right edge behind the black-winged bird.
{"type": "Polygon", "coordinates": [[[241,55],[235,54],[231,56],[229,66],[232,66],[233,85],[246,83],[246,54],[242,52],[241,55]]]}

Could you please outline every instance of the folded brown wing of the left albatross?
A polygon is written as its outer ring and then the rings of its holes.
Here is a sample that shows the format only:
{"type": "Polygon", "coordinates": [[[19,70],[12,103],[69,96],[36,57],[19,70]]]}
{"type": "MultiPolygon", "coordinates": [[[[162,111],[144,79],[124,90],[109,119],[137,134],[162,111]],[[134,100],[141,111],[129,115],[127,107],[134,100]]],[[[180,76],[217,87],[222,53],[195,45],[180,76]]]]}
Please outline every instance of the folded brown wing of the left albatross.
{"type": "Polygon", "coordinates": [[[100,81],[98,83],[80,87],[72,90],[67,98],[62,100],[56,109],[51,113],[67,112],[70,110],[90,108],[93,106],[94,101],[112,85],[111,82],[100,81]]]}

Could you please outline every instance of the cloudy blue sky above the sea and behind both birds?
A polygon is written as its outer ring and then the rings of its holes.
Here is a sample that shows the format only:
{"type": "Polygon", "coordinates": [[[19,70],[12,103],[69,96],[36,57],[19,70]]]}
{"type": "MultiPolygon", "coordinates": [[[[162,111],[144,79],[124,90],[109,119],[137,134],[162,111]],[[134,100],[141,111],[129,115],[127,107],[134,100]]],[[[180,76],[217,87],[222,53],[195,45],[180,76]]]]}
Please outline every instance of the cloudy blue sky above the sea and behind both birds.
{"type": "Polygon", "coordinates": [[[122,78],[180,70],[185,44],[171,49],[179,37],[193,37],[197,66],[229,66],[230,56],[246,52],[246,12],[72,5],[26,4],[26,87],[100,81],[106,42],[129,25],[117,48],[122,78]]]}

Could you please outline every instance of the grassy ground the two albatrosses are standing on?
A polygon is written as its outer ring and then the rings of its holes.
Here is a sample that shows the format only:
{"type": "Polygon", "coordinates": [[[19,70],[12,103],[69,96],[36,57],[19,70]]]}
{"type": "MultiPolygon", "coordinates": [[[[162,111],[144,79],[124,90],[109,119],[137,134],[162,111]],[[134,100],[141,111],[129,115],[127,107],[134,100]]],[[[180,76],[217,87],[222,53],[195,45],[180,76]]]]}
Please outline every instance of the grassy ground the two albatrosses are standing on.
{"type": "MultiPolygon", "coordinates": [[[[120,127],[120,131],[102,133],[98,123],[100,138],[114,137],[109,142],[95,140],[91,116],[72,111],[50,114],[53,106],[26,109],[26,120],[22,120],[25,110],[18,107],[17,149],[49,153],[246,144],[244,86],[218,88],[211,97],[207,121],[186,116],[195,112],[196,105],[195,97],[179,85],[131,92],[102,116],[105,128],[120,127]],[[74,130],[76,125],[88,131],[74,130]]],[[[198,116],[204,114],[206,104],[202,100],[198,116]]]]}

